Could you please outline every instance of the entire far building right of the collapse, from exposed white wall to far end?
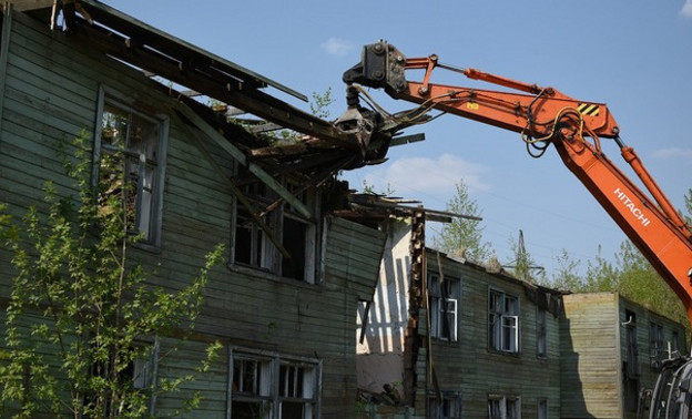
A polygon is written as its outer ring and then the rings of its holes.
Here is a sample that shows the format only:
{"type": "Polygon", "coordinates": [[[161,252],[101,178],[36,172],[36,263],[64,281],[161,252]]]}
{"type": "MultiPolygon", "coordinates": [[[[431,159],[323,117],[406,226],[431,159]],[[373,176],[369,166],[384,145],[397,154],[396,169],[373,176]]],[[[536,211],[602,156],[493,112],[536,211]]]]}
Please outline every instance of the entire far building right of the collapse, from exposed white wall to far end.
{"type": "Polygon", "coordinates": [[[660,362],[686,354],[683,325],[615,293],[558,292],[429,247],[419,258],[420,221],[398,219],[359,311],[358,387],[383,417],[635,418],[660,362]]]}

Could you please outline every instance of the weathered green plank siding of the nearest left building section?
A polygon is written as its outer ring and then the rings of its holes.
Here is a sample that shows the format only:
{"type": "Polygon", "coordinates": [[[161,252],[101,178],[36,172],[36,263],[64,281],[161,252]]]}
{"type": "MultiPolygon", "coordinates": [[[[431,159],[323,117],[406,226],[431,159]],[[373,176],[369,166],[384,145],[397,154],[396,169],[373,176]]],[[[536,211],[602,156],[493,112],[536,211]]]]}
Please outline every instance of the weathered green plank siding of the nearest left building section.
{"type": "MultiPolygon", "coordinates": [[[[161,247],[157,253],[133,249],[132,254],[152,272],[152,283],[170,290],[186,285],[206,252],[217,243],[228,244],[233,196],[223,176],[232,174],[234,160],[200,131],[182,126],[172,112],[177,104],[154,90],[151,80],[83,48],[78,35],[50,32],[44,23],[13,13],[11,32],[2,41],[8,54],[2,68],[0,201],[8,203],[10,213],[21,215],[30,205],[41,208],[47,180],[61,193],[73,192],[60,143],[81,130],[93,133],[100,86],[132,98],[138,106],[170,117],[161,247]],[[215,165],[205,160],[191,133],[215,165]]],[[[215,269],[195,333],[225,345],[322,360],[322,413],[327,418],[343,417],[355,405],[356,309],[359,299],[373,295],[385,235],[332,218],[324,236],[328,244],[323,285],[231,266],[215,269]]],[[[10,257],[0,249],[0,295],[9,293],[10,257]]],[[[161,364],[162,377],[190,370],[202,348],[190,345],[161,364]]],[[[214,368],[194,385],[208,401],[200,417],[225,416],[221,371],[226,367],[214,368]]],[[[166,412],[177,407],[177,398],[161,397],[156,409],[166,412]]]]}

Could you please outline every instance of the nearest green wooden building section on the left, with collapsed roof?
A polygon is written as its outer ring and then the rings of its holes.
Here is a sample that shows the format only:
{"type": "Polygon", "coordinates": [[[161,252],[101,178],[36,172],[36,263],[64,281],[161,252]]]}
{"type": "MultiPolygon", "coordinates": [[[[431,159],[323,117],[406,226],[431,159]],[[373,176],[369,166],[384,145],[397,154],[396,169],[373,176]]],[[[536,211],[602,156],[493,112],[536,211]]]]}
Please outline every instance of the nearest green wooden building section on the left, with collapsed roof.
{"type": "MultiPolygon", "coordinates": [[[[211,371],[184,388],[203,397],[186,417],[349,416],[353,325],[373,296],[385,241],[333,215],[347,191],[335,173],[359,164],[353,139],[278,99],[305,99],[289,88],[98,1],[62,3],[3,2],[0,202],[16,216],[42,211],[48,180],[73,194],[61,144],[85,131],[98,178],[119,137],[143,237],[133,258],[154,272],[151,282],[180,289],[210,249],[227,248],[194,336],[144,337],[161,352],[180,346],[152,361],[147,380],[193,372],[218,340],[211,371]],[[243,124],[230,122],[235,109],[243,124]],[[305,136],[274,146],[262,134],[267,123],[305,136]]],[[[3,307],[10,258],[0,249],[3,307]]],[[[183,398],[162,395],[150,413],[170,413],[183,398]]]]}

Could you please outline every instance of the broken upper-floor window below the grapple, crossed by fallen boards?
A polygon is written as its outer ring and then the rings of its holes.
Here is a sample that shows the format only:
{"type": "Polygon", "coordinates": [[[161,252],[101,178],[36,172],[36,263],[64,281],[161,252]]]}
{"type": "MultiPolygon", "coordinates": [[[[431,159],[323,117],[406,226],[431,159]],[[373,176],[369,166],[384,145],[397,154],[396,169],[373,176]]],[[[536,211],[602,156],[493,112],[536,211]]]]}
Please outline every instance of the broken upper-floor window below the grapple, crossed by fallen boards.
{"type": "MultiPolygon", "coordinates": [[[[282,184],[289,191],[298,190],[297,184],[285,178],[282,180],[282,184]]],[[[242,192],[255,206],[255,211],[263,211],[278,200],[278,196],[275,195],[269,187],[262,184],[261,181],[257,180],[253,185],[255,187],[244,187],[242,192]]],[[[284,256],[267,237],[266,233],[252,219],[251,215],[245,218],[240,217],[240,211],[245,213],[248,212],[248,209],[242,206],[237,197],[233,198],[233,229],[231,237],[232,266],[260,270],[269,275],[302,280],[308,284],[318,284],[320,282],[322,269],[319,265],[319,254],[322,248],[319,242],[320,238],[324,238],[323,235],[320,235],[320,226],[317,222],[320,219],[319,192],[315,188],[311,188],[304,191],[298,198],[313,211],[312,219],[306,219],[286,203],[281,203],[268,214],[265,214],[262,219],[273,231],[274,238],[282,243],[287,249],[295,246],[296,242],[296,237],[289,236],[285,231],[285,228],[287,228],[287,223],[294,223],[294,226],[297,224],[302,225],[304,236],[298,239],[298,243],[303,243],[304,247],[301,252],[302,257],[292,260],[293,263],[299,264],[298,269],[302,269],[302,275],[287,272],[287,265],[284,264],[284,262],[287,260],[284,259],[284,256]],[[241,241],[240,232],[243,229],[245,231],[244,234],[248,237],[244,237],[241,241]],[[244,260],[241,259],[241,255],[245,258],[244,260]]]]}

